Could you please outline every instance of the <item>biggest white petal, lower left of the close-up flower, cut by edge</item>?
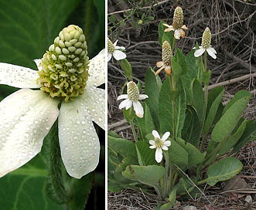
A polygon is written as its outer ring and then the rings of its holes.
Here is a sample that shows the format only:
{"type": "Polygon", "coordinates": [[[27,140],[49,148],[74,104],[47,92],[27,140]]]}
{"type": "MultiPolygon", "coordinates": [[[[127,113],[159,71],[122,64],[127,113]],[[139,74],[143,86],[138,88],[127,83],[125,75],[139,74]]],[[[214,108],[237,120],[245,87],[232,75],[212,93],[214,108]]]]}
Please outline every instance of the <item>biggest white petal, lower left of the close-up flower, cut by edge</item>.
{"type": "Polygon", "coordinates": [[[58,117],[59,100],[40,90],[22,89],[0,103],[0,177],[41,151],[43,138],[58,117]]]}

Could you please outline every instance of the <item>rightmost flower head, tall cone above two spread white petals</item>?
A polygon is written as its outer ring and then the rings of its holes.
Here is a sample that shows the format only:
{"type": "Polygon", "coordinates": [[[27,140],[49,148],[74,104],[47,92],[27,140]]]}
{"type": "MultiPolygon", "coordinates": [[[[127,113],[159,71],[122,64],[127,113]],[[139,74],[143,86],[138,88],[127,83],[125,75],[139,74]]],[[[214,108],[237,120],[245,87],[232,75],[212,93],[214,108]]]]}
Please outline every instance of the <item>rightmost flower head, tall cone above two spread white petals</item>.
{"type": "Polygon", "coordinates": [[[207,51],[207,53],[213,58],[216,59],[217,54],[216,50],[213,49],[210,45],[211,42],[211,33],[210,29],[207,27],[207,29],[204,30],[203,32],[203,37],[202,37],[202,46],[199,47],[199,49],[194,52],[194,56],[199,57],[203,55],[203,52],[207,51]]]}

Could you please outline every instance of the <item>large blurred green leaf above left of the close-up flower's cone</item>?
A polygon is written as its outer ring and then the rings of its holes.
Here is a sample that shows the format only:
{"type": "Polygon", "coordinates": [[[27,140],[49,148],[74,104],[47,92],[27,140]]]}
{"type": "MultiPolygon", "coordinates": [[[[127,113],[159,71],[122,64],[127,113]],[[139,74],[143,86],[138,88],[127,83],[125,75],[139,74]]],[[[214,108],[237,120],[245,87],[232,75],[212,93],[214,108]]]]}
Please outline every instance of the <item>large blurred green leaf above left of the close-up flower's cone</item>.
{"type": "Polygon", "coordinates": [[[1,0],[1,62],[36,69],[33,59],[42,58],[79,2],[1,0]]]}

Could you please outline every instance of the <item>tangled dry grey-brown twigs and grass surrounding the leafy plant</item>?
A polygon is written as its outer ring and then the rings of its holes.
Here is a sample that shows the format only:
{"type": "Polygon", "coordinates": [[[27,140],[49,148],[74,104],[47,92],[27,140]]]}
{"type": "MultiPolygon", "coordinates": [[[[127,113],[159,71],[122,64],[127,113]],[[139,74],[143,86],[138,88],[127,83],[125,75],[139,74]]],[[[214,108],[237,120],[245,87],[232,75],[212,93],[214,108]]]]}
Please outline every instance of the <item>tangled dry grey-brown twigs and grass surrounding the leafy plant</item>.
{"type": "MultiPolygon", "coordinates": [[[[109,0],[108,13],[116,12],[122,18],[129,8],[128,3],[109,0]]],[[[173,11],[177,5],[183,8],[184,24],[189,27],[186,38],[179,40],[177,47],[183,53],[189,52],[196,42],[201,42],[203,30],[208,26],[212,32],[212,45],[217,50],[217,59],[209,59],[208,67],[212,76],[210,85],[234,79],[234,83],[225,84],[225,100],[230,100],[238,90],[248,90],[254,94],[244,117],[256,119],[256,4],[255,1],[208,0],[208,1],[159,1],[152,9],[155,20],[149,25],[138,29],[127,26],[120,29],[118,46],[125,46],[128,61],[133,66],[133,78],[144,81],[145,72],[149,66],[155,68],[155,63],[161,60],[161,46],[158,42],[158,24],[160,20],[169,24],[172,22],[173,11]],[[241,76],[244,80],[238,80],[241,76]]],[[[149,6],[149,5],[148,5],[149,6]]],[[[114,31],[118,32],[118,29],[114,31]]],[[[131,130],[123,120],[122,111],[118,110],[116,98],[121,94],[121,87],[126,82],[124,73],[116,62],[108,63],[108,127],[122,137],[131,139],[131,130]]],[[[198,209],[256,209],[256,141],[249,142],[235,154],[244,168],[239,174],[251,187],[251,191],[241,193],[233,191],[224,193],[222,186],[205,188],[205,195],[179,201],[175,209],[185,205],[194,205],[198,209]],[[253,197],[254,203],[245,206],[246,195],[253,197]]],[[[179,200],[179,199],[178,199],[179,200]]],[[[139,191],[125,190],[119,193],[109,192],[108,209],[155,209],[159,198],[155,195],[145,195],[139,191]]]]}

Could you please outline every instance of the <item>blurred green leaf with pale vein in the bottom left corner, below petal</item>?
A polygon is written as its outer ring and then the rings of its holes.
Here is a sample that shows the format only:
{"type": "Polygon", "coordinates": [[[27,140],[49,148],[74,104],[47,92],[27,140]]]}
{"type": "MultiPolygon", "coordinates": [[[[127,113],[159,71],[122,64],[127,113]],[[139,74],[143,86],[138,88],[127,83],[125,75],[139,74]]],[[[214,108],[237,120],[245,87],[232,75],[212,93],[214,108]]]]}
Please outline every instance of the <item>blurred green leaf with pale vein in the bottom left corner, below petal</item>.
{"type": "Polygon", "coordinates": [[[0,206],[5,210],[60,210],[46,196],[47,171],[44,168],[43,157],[38,154],[29,163],[0,178],[0,206]]]}

